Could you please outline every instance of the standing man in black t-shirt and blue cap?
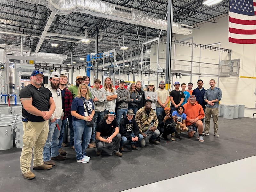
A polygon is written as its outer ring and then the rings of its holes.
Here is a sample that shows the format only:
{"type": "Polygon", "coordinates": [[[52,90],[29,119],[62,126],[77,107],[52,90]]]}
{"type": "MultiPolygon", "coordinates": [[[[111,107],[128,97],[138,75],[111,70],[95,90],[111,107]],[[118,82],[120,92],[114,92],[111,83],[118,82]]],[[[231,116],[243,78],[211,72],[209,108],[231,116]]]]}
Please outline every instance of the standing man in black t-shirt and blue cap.
{"type": "Polygon", "coordinates": [[[178,81],[174,82],[175,89],[170,92],[170,101],[171,101],[171,113],[177,110],[177,107],[180,106],[184,101],[184,93],[180,91],[180,83],[178,81]]]}

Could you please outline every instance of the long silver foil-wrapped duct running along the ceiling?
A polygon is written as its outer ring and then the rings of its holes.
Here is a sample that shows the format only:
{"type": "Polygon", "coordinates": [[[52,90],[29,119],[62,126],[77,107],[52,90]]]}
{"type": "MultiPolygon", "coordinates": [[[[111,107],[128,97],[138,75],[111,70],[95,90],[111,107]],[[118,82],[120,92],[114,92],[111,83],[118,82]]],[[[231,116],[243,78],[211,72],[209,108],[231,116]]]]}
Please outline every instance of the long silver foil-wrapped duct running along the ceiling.
{"type": "MultiPolygon", "coordinates": [[[[72,12],[80,12],[96,17],[122,21],[142,25],[150,28],[162,29],[167,31],[167,21],[156,19],[143,14],[141,11],[133,8],[111,4],[101,0],[22,0],[31,4],[41,4],[48,7],[52,12],[58,15],[67,15],[72,12]]],[[[177,34],[191,34],[193,27],[173,23],[172,32],[177,34]]]]}

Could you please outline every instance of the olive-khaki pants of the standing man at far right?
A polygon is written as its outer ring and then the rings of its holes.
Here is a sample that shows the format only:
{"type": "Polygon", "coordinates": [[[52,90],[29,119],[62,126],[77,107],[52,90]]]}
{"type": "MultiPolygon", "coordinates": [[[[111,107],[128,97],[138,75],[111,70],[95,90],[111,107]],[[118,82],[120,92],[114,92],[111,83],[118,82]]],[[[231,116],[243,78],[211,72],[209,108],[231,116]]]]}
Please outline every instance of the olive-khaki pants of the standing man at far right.
{"type": "Polygon", "coordinates": [[[210,130],[210,121],[211,121],[211,115],[213,119],[213,129],[214,134],[218,133],[218,115],[219,115],[219,108],[205,108],[205,127],[204,132],[209,133],[210,130]]]}

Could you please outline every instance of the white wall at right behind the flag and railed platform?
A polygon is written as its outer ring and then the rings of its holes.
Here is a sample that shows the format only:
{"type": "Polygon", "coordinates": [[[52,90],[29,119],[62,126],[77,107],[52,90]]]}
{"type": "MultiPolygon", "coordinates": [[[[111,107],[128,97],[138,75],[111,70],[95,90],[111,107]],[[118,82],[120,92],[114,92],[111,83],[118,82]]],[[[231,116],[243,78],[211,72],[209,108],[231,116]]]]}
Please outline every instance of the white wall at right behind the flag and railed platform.
{"type": "MultiPolygon", "coordinates": [[[[234,44],[228,42],[228,16],[217,19],[217,23],[204,23],[200,29],[194,28],[193,34],[176,35],[177,40],[193,36],[194,43],[212,44],[221,42],[222,48],[232,50],[231,59],[240,59],[240,76],[256,76],[256,44],[234,44]]],[[[185,46],[184,46],[185,47],[185,46]]],[[[183,49],[183,52],[186,49],[183,49]]],[[[194,55],[198,55],[196,49],[194,55]]],[[[191,51],[190,51],[191,52],[191,51]]],[[[221,60],[226,60],[227,54],[221,53],[221,60]]],[[[208,89],[210,77],[201,77],[204,81],[204,88],[208,89]]],[[[217,81],[217,77],[214,77],[217,81]]],[[[194,88],[198,77],[192,78],[194,88]]],[[[190,76],[182,76],[181,82],[190,82],[190,76]]],[[[216,84],[217,85],[217,84],[216,84]]],[[[222,89],[222,104],[244,104],[245,107],[255,107],[256,96],[254,95],[256,79],[239,77],[220,77],[219,88],[222,89]]]]}

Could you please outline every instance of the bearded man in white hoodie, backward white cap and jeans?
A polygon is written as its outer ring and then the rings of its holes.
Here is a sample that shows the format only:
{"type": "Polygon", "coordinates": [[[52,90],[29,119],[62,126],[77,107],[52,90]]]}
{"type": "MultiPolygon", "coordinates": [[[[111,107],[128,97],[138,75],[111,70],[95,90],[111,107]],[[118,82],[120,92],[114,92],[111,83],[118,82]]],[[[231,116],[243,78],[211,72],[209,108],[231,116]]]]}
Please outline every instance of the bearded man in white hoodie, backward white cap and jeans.
{"type": "Polygon", "coordinates": [[[50,84],[45,84],[44,87],[51,91],[56,108],[49,120],[49,133],[43,149],[43,161],[46,165],[54,166],[53,159],[66,159],[65,156],[59,155],[58,151],[58,138],[60,136],[60,127],[64,112],[62,109],[61,90],[59,89],[60,74],[53,72],[49,80],[50,84]]]}

